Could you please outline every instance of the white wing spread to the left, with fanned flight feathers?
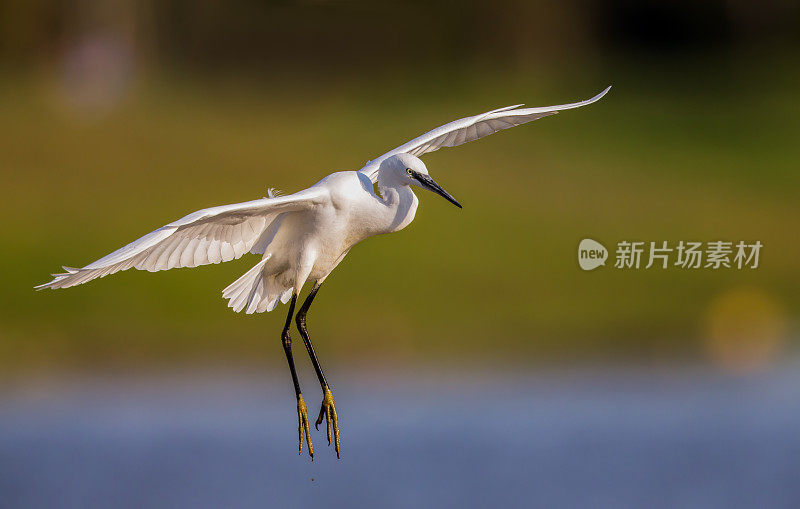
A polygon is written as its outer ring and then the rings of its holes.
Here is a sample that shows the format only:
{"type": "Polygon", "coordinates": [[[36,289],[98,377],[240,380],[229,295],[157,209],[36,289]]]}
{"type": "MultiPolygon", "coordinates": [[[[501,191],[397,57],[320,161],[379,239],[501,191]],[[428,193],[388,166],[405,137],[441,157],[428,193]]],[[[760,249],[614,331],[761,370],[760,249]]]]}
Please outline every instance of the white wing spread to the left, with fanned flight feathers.
{"type": "Polygon", "coordinates": [[[52,281],[36,289],[69,288],[131,267],[155,272],[227,262],[251,250],[263,251],[258,240],[279,214],[311,208],[324,199],[324,193],[311,187],[288,196],[198,210],[85,267],[64,267],[67,272],[53,274],[52,281]]]}

